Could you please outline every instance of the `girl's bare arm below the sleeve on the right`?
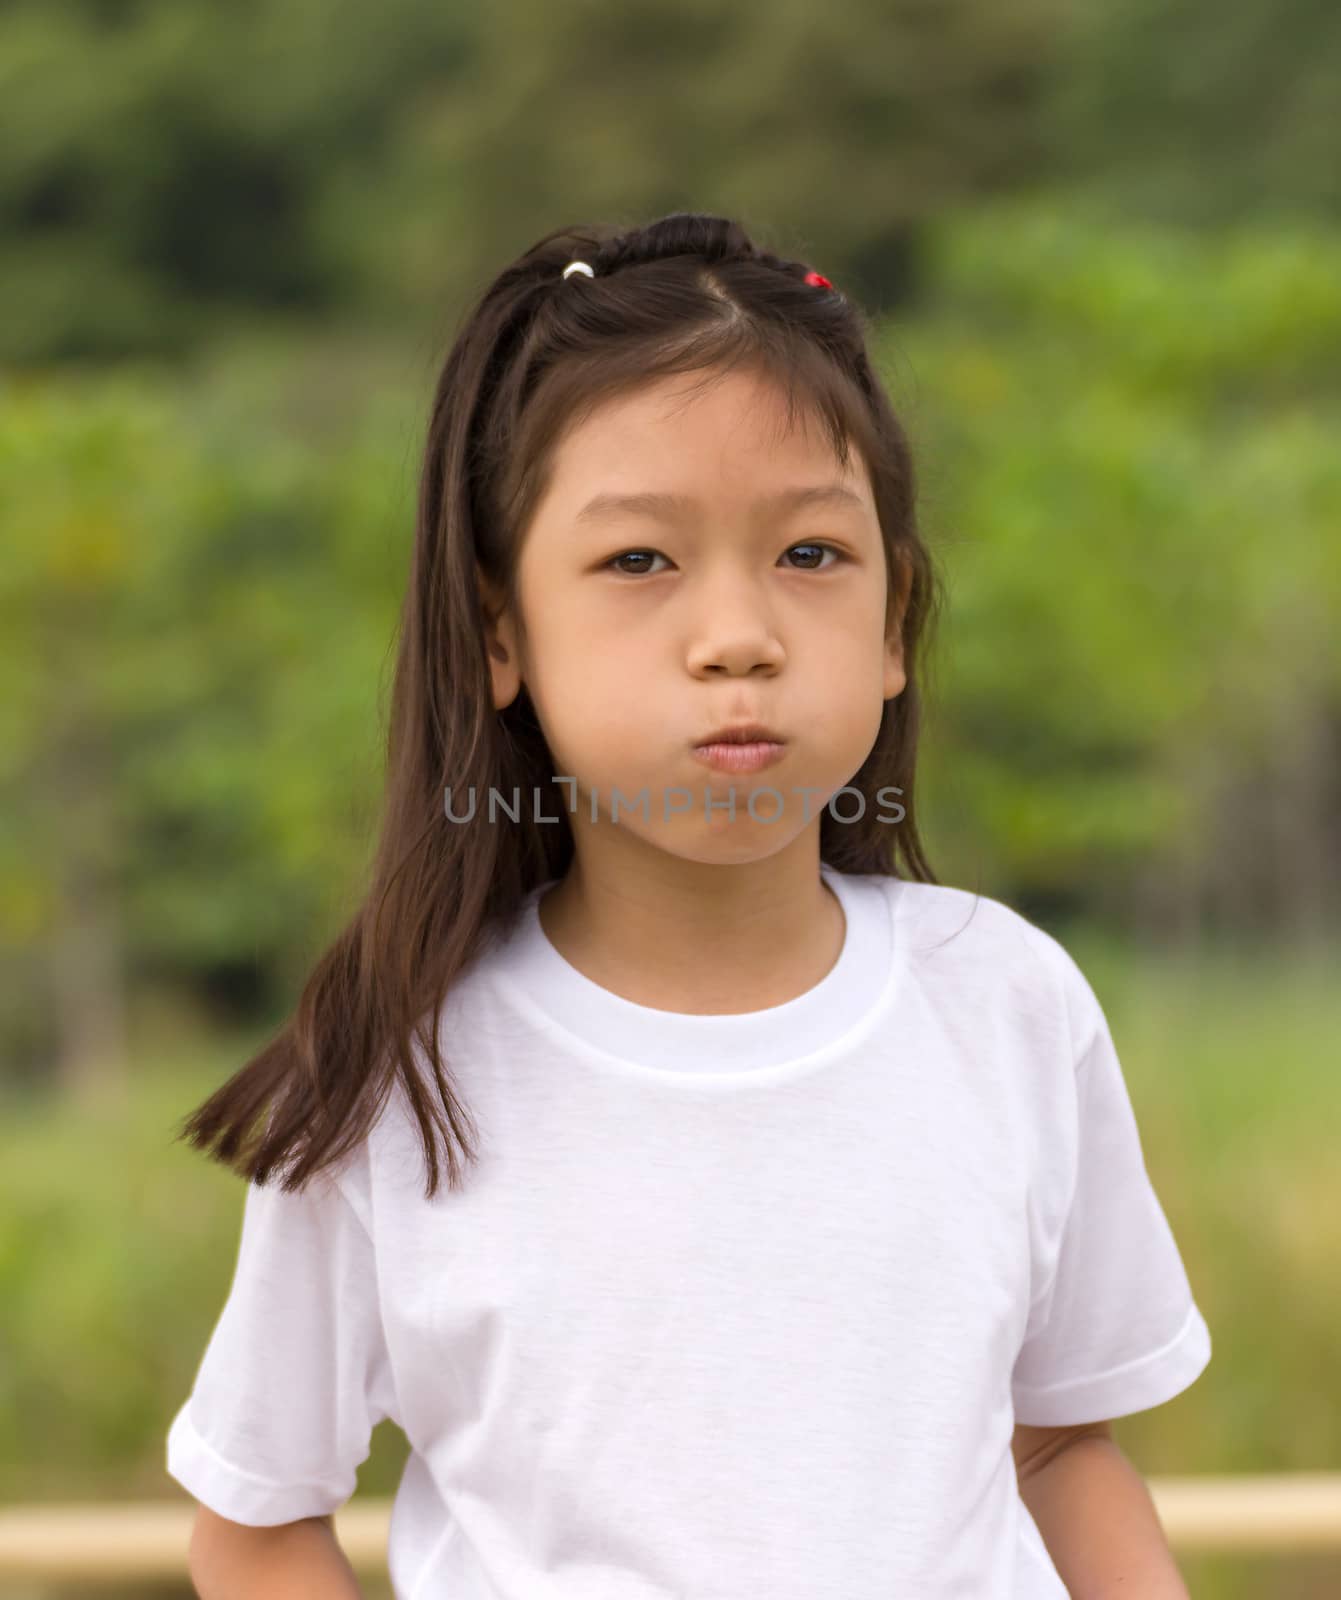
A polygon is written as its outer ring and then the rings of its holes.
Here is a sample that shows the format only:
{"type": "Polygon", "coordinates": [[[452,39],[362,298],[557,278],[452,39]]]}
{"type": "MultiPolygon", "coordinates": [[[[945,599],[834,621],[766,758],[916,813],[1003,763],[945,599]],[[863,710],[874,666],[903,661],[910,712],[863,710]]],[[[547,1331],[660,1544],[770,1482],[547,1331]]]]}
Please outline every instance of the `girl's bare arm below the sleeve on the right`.
{"type": "MultiPolygon", "coordinates": [[[[1048,1432],[1024,1429],[1031,1440],[1048,1432]]],[[[1109,1424],[1051,1432],[1018,1450],[1019,1498],[1072,1600],[1189,1600],[1146,1480],[1109,1424]]]]}

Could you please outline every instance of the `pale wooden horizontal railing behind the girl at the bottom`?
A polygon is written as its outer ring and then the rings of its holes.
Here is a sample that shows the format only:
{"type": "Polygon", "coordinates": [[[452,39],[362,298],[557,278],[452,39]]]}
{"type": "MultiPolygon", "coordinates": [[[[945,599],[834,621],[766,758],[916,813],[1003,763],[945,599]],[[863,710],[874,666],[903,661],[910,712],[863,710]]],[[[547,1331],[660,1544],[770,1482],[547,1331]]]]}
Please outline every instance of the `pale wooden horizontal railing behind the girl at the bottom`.
{"type": "MultiPolygon", "coordinates": [[[[1341,1552],[1341,1472],[1147,1478],[1179,1550],[1341,1552]]],[[[194,1501],[0,1509],[0,1579],[134,1582],[186,1578],[194,1501]]],[[[334,1514],[358,1573],[386,1573],[389,1499],[355,1496],[334,1514]]]]}

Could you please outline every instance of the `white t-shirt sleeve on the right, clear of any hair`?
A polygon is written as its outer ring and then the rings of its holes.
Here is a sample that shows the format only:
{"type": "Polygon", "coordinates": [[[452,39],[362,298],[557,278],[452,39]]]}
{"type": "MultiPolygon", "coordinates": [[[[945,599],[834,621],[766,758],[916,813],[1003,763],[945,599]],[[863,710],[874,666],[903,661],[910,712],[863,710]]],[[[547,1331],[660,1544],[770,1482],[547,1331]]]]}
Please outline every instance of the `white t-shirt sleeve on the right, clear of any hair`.
{"type": "Polygon", "coordinates": [[[1211,1357],[1107,1021],[1069,957],[1067,968],[1090,1037],[1075,1064],[1074,1182],[1055,1272],[1031,1307],[1011,1378],[1016,1421],[1037,1427],[1162,1405],[1211,1357]]]}

